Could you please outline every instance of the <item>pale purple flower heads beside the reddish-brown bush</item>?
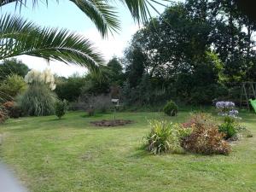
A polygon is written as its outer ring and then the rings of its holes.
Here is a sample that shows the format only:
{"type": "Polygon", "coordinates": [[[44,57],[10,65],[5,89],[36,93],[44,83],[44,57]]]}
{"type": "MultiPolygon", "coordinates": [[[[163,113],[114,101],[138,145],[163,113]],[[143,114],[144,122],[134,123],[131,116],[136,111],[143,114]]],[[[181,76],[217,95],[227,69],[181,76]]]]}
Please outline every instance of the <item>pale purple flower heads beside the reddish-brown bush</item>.
{"type": "Polygon", "coordinates": [[[216,108],[218,109],[218,114],[222,116],[230,116],[233,118],[238,117],[238,111],[235,109],[235,102],[216,102],[216,108]]]}

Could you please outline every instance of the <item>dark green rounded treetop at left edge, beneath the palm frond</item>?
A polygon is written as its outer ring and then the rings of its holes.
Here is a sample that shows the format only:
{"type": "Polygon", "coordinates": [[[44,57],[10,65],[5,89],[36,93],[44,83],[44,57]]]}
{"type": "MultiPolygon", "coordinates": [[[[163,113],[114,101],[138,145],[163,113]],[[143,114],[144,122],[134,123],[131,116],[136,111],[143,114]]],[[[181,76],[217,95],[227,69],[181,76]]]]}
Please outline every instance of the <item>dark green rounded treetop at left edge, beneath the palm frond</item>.
{"type": "Polygon", "coordinates": [[[17,59],[4,60],[0,64],[0,80],[6,79],[11,74],[24,78],[28,71],[29,68],[22,61],[17,59]]]}

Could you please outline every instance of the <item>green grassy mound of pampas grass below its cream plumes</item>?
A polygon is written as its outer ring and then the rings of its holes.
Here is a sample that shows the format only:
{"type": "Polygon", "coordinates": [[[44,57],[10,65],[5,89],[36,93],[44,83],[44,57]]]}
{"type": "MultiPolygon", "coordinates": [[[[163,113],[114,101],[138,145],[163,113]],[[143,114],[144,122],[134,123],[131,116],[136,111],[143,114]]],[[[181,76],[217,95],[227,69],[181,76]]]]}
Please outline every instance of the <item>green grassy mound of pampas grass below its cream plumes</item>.
{"type": "Polygon", "coordinates": [[[55,113],[56,96],[48,85],[33,84],[17,97],[18,106],[26,115],[44,116],[55,113]]]}

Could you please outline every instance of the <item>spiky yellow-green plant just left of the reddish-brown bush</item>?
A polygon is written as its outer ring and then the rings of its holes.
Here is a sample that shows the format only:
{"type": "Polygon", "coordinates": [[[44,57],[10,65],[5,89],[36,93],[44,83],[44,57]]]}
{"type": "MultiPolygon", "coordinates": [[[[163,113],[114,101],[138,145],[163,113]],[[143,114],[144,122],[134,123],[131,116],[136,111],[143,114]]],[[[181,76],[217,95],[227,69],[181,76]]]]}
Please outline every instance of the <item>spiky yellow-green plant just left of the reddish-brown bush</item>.
{"type": "Polygon", "coordinates": [[[166,121],[153,120],[150,122],[151,132],[145,137],[146,148],[154,154],[178,152],[180,147],[180,133],[178,125],[166,121]]]}

